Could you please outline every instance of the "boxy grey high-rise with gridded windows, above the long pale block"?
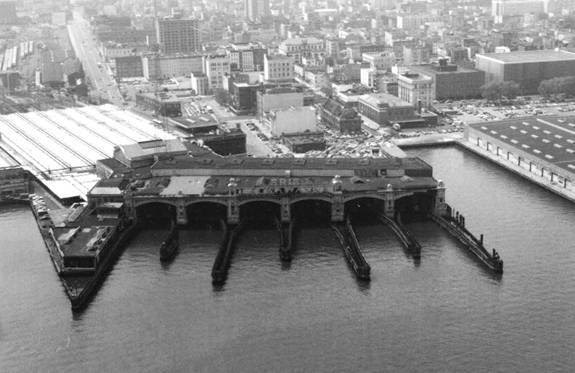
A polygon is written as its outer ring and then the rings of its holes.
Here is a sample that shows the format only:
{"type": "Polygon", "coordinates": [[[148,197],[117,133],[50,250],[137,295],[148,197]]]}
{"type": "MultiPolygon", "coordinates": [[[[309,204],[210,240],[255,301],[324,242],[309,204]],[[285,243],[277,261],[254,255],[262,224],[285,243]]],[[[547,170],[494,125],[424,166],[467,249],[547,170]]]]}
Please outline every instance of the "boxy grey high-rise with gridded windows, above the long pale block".
{"type": "Polygon", "coordinates": [[[197,19],[159,19],[156,39],[164,54],[187,54],[202,49],[197,19]]]}

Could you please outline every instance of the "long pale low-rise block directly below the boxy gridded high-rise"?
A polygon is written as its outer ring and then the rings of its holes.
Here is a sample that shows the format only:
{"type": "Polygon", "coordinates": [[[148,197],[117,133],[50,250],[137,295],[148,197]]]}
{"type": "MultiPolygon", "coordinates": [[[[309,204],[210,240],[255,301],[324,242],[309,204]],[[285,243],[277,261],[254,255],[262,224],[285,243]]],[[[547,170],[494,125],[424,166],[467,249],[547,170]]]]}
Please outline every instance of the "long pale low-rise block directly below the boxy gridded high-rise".
{"type": "Polygon", "coordinates": [[[142,71],[148,80],[168,79],[174,76],[189,76],[204,73],[201,55],[160,56],[157,54],[142,57],[142,71]]]}

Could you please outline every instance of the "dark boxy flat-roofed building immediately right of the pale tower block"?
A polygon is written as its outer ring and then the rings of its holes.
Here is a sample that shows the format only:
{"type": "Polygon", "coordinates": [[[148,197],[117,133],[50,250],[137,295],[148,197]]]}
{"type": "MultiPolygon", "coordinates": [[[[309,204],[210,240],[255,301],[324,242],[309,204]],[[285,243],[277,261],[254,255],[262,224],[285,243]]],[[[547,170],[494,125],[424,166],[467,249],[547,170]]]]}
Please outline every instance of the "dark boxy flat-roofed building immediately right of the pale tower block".
{"type": "Polygon", "coordinates": [[[440,60],[439,64],[413,66],[411,69],[433,79],[436,100],[479,97],[481,86],[485,84],[483,71],[451,65],[445,59],[440,60]]]}

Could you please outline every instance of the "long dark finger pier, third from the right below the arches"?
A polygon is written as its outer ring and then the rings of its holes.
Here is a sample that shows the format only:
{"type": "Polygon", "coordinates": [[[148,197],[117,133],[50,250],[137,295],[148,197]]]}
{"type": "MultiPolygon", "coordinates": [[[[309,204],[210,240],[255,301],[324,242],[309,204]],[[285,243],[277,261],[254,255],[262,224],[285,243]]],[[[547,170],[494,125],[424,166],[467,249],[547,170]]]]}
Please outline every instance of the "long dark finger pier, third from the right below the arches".
{"type": "Polygon", "coordinates": [[[341,244],[345,259],[349,263],[357,279],[361,281],[370,281],[371,267],[361,253],[359,241],[357,240],[357,236],[355,235],[355,231],[353,230],[353,226],[351,225],[349,218],[343,223],[332,224],[332,229],[341,244]]]}

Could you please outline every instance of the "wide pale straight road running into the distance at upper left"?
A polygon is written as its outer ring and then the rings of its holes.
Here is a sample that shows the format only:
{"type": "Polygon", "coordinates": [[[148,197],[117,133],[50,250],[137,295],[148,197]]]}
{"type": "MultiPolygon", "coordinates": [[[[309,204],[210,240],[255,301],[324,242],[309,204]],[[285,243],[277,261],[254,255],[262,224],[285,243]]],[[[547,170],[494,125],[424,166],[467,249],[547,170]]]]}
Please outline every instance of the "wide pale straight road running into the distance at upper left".
{"type": "Polygon", "coordinates": [[[99,92],[101,98],[122,105],[124,99],[98,51],[90,23],[79,11],[74,11],[74,19],[68,24],[68,35],[76,56],[82,62],[84,71],[92,82],[93,89],[99,92]]]}

